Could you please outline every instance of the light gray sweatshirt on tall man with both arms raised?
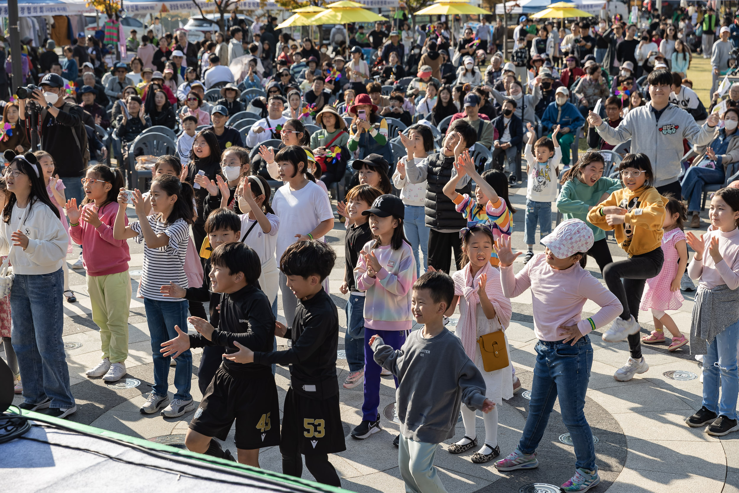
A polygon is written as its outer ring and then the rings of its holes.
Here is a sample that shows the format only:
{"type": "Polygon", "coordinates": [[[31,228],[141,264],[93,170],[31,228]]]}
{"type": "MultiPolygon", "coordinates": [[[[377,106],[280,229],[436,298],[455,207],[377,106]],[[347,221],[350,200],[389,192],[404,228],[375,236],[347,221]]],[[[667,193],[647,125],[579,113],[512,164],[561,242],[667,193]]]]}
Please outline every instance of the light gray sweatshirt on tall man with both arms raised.
{"type": "Polygon", "coordinates": [[[713,137],[715,127],[708,126],[708,123],[698,126],[687,111],[671,103],[657,122],[651,103],[647,103],[628,112],[615,129],[603,120],[596,130],[612,146],[631,139],[631,152],[643,152],[649,157],[655,174],[654,186],[658,187],[678,180],[683,139],[706,146],[713,137]]]}

